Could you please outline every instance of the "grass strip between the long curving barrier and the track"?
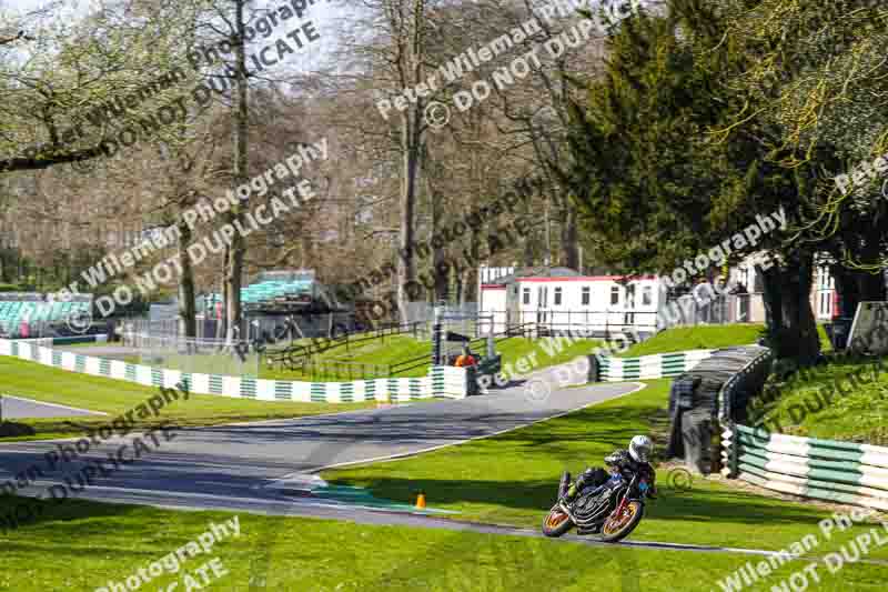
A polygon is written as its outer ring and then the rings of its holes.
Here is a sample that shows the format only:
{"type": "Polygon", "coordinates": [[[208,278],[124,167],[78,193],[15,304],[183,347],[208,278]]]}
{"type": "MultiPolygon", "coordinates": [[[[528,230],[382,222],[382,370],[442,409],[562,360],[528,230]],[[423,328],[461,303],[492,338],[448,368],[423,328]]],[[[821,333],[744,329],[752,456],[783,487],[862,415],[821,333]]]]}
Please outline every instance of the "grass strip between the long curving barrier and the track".
{"type": "MultiPolygon", "coordinates": [[[[63,405],[78,407],[90,411],[103,411],[108,417],[78,417],[82,425],[100,425],[113,420],[150,397],[158,389],[142,387],[132,382],[77,374],[36,362],[27,362],[9,357],[0,357],[0,393],[14,394],[63,405]]],[[[164,407],[159,418],[145,421],[139,428],[160,421],[171,421],[178,425],[214,425],[241,421],[296,418],[364,409],[372,403],[293,403],[249,401],[210,394],[192,394],[188,401],[180,399],[164,407]]],[[[58,438],[74,435],[81,431],[60,419],[17,420],[30,427],[34,434],[29,438],[58,438]]],[[[0,434],[3,432],[0,431],[0,434]]],[[[4,439],[6,440],[6,439],[4,439]]]]}

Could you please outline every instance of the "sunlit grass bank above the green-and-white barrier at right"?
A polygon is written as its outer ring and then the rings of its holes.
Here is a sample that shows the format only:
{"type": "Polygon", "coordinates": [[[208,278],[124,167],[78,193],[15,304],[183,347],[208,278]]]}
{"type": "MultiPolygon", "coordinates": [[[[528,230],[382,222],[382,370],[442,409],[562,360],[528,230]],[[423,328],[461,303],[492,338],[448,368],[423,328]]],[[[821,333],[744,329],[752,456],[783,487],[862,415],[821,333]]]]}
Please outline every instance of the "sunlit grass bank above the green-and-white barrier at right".
{"type": "Polygon", "coordinates": [[[773,383],[777,394],[769,397],[776,402],[764,415],[766,427],[795,435],[888,445],[888,364],[861,358],[828,360],[773,383]]]}

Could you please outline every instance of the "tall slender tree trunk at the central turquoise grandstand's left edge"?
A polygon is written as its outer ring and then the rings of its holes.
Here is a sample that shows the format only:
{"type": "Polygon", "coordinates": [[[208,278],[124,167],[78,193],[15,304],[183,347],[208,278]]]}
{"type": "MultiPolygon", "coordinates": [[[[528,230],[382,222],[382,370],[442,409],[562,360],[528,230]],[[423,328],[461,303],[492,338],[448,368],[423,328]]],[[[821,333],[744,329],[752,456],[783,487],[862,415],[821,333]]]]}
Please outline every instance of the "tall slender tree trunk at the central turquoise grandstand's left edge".
{"type": "MultiPolygon", "coordinates": [[[[248,102],[246,102],[246,53],[244,50],[245,23],[244,23],[245,0],[236,0],[234,7],[234,27],[236,28],[236,39],[234,43],[234,184],[241,185],[248,182],[248,102]]],[[[246,202],[242,201],[230,211],[230,221],[238,220],[243,225],[243,210],[246,202]]],[[[231,250],[228,264],[225,283],[228,285],[226,308],[226,330],[225,341],[230,345],[240,335],[236,334],[241,327],[241,279],[243,275],[243,260],[246,254],[244,238],[235,232],[231,239],[231,250]],[[235,329],[238,328],[238,329],[235,329]]]]}

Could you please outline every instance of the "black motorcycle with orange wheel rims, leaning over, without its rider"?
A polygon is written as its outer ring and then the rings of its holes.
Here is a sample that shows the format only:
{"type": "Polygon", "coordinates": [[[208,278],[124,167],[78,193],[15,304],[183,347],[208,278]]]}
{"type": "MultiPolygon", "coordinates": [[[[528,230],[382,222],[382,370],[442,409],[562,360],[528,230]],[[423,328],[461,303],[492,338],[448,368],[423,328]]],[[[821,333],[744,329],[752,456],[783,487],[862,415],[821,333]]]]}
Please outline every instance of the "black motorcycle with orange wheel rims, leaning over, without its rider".
{"type": "Polygon", "coordinates": [[[546,536],[557,538],[577,526],[577,534],[599,533],[603,541],[612,543],[628,536],[642,521],[650,485],[638,474],[614,471],[606,483],[586,488],[567,502],[564,496],[571,482],[571,473],[565,471],[558,500],[543,521],[546,536]]]}

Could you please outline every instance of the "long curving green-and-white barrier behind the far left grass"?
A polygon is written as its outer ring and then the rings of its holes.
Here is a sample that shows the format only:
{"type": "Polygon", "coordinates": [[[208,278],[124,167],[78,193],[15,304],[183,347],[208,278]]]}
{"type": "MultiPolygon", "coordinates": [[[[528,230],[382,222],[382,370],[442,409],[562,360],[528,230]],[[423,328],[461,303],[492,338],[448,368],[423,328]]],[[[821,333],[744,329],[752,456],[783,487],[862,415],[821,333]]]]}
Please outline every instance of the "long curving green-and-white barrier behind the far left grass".
{"type": "Polygon", "coordinates": [[[465,369],[454,367],[432,367],[428,374],[422,378],[301,382],[184,373],[165,368],[151,368],[121,360],[58,351],[29,340],[0,339],[0,355],[11,355],[60,370],[124,380],[145,387],[172,389],[179,382],[184,381],[191,392],[199,394],[219,394],[259,401],[357,403],[391,400],[404,402],[431,397],[463,399],[468,392],[465,369]]]}

